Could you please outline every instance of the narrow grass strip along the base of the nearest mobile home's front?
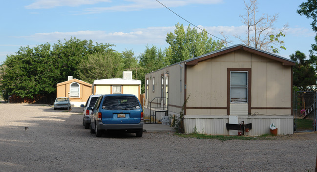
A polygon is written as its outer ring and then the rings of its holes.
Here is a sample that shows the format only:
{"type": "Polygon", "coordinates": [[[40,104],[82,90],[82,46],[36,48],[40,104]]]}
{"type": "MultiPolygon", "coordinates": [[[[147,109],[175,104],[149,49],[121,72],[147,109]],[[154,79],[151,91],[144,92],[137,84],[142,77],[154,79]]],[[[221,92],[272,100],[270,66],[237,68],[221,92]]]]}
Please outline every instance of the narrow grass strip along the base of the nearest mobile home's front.
{"type": "Polygon", "coordinates": [[[226,140],[268,140],[272,139],[271,134],[263,134],[257,137],[249,137],[249,136],[226,136],[226,135],[207,135],[207,134],[200,134],[200,133],[190,133],[190,134],[180,134],[175,133],[180,137],[190,137],[190,138],[197,138],[197,139],[217,139],[221,141],[226,140]]]}

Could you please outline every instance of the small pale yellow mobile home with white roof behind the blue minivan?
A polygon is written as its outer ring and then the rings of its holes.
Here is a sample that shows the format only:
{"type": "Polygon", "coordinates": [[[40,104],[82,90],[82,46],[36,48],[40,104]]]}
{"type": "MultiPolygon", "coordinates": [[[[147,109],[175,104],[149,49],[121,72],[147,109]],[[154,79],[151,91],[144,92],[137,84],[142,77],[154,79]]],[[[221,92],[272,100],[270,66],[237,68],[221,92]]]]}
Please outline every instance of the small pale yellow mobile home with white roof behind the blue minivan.
{"type": "Polygon", "coordinates": [[[141,81],[122,78],[95,80],[92,91],[93,94],[133,94],[140,100],[141,81]]]}

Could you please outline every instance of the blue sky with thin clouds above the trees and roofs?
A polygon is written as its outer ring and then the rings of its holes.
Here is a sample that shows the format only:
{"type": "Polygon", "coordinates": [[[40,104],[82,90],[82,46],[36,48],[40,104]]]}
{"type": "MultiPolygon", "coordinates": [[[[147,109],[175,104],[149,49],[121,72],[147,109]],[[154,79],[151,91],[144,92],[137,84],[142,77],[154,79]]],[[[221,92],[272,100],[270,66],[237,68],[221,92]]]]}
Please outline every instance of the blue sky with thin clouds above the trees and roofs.
{"type": "MultiPolygon", "coordinates": [[[[223,32],[233,44],[242,43],[233,35],[245,35],[240,17],[246,13],[243,0],[159,1],[212,35],[223,38],[223,32]]],[[[258,0],[258,15],[278,14],[275,29],[289,25],[283,38],[287,50],[279,53],[282,57],[289,58],[296,50],[308,57],[315,43],[312,20],[296,13],[305,1],[258,0]]],[[[147,45],[165,49],[167,33],[174,31],[175,24],[185,28],[189,24],[156,0],[5,0],[0,21],[0,63],[21,46],[53,45],[70,37],[115,44],[115,50],[132,49],[138,56],[147,45]]]]}

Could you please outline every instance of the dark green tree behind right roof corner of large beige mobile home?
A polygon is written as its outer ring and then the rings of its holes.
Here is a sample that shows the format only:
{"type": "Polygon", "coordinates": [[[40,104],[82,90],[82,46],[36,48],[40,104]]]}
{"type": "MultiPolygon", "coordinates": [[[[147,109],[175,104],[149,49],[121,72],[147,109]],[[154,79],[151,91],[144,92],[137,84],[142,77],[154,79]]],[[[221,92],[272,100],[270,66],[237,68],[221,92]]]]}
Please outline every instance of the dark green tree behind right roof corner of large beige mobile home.
{"type": "Polygon", "coordinates": [[[300,51],[290,55],[290,58],[296,62],[293,68],[293,86],[302,87],[316,85],[317,77],[315,69],[309,60],[305,60],[306,56],[300,51]]]}

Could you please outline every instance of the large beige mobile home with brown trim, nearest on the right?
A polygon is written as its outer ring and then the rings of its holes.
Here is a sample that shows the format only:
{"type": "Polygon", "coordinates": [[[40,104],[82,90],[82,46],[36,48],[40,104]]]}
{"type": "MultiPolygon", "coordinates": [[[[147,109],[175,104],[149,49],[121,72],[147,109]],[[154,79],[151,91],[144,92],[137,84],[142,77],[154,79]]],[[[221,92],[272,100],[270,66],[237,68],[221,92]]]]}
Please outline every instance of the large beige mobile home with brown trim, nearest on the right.
{"type": "MultiPolygon", "coordinates": [[[[179,115],[184,106],[185,132],[235,135],[226,124],[252,123],[245,135],[293,133],[294,61],[243,44],[217,50],[146,74],[145,116],[164,97],[167,114],[179,115]],[[151,110],[150,110],[151,109],[151,110]]],[[[156,113],[161,119],[165,113],[156,113]]]]}

